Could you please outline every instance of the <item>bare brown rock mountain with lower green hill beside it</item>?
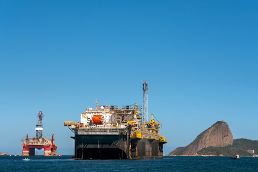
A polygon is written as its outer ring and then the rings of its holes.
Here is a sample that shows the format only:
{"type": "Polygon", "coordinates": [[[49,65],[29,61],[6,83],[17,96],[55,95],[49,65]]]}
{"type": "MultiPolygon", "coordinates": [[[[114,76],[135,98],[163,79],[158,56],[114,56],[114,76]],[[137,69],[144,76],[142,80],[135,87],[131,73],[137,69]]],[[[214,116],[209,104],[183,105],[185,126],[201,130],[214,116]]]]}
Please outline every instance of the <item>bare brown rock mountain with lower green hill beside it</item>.
{"type": "Polygon", "coordinates": [[[211,127],[200,133],[186,147],[176,148],[167,156],[175,155],[214,155],[214,156],[251,156],[246,150],[258,150],[258,141],[247,139],[233,140],[229,126],[224,121],[217,121],[211,127]],[[257,146],[255,146],[257,145],[257,146]]]}

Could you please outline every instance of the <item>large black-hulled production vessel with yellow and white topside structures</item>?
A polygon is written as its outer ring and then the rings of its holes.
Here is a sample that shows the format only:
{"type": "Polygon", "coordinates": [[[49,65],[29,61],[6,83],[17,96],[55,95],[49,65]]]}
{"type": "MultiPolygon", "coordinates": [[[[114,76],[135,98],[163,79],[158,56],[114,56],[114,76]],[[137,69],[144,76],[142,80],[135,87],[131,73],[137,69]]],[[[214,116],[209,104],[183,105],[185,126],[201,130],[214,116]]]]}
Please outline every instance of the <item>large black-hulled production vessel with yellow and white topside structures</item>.
{"type": "Polygon", "coordinates": [[[153,114],[147,121],[147,82],[143,83],[142,108],[131,106],[89,106],[81,122],[64,121],[75,136],[75,159],[147,159],[163,158],[165,137],[159,134],[161,123],[153,114]],[[144,90],[145,89],[145,90],[144,90]],[[143,116],[143,117],[142,117],[143,116]]]}

